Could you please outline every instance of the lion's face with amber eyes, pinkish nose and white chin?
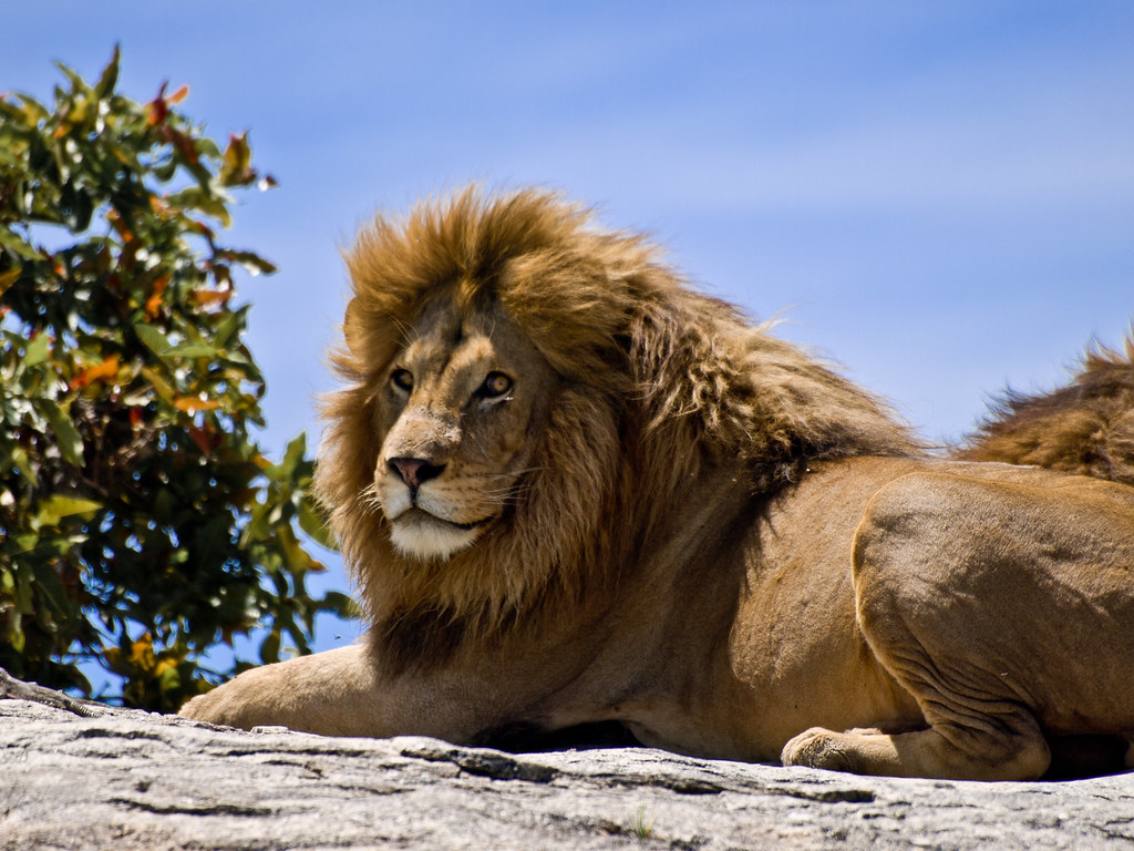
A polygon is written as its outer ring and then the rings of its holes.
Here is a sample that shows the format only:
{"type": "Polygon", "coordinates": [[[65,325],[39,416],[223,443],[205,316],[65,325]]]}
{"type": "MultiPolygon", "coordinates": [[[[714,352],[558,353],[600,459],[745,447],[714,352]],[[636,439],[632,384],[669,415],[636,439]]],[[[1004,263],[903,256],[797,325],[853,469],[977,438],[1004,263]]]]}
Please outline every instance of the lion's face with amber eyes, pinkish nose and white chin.
{"type": "Polygon", "coordinates": [[[374,492],[405,555],[448,558],[519,497],[555,372],[498,309],[426,307],[380,376],[374,492]]]}

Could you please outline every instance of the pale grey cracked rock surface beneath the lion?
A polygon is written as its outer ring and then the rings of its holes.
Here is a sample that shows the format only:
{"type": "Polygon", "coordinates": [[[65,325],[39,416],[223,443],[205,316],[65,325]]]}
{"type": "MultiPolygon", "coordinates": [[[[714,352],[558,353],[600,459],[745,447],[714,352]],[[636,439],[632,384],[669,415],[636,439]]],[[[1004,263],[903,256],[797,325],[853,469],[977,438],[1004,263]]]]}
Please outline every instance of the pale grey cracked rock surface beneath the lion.
{"type": "Polygon", "coordinates": [[[855,777],[648,749],[514,756],[0,700],[0,849],[1094,849],[1134,775],[855,777]]]}

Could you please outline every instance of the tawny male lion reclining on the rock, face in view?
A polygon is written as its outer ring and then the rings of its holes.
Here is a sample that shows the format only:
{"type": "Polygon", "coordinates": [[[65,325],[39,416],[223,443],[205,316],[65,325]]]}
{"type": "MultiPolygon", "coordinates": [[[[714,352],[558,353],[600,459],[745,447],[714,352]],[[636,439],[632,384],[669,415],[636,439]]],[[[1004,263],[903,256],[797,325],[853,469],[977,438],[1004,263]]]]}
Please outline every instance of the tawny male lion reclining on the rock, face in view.
{"type": "Polygon", "coordinates": [[[315,483],[369,632],[181,715],[983,781],[1134,733],[1134,488],[934,454],[552,192],[346,262],[315,483]]]}

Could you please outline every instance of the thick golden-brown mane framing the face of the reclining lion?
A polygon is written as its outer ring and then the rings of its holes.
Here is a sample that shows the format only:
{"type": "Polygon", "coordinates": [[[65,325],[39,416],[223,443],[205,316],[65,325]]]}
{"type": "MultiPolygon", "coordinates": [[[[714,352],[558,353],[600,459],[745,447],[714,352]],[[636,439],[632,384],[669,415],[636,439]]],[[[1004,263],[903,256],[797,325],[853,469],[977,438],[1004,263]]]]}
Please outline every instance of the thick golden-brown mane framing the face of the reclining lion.
{"type": "Polygon", "coordinates": [[[345,387],[325,404],[316,488],[395,666],[447,658],[601,592],[705,465],[739,471],[759,498],[811,460],[920,450],[873,396],[694,290],[643,237],[599,229],[551,192],[471,187],[406,218],[379,216],[346,262],[346,347],[333,355],[345,387]],[[531,438],[543,463],[524,497],[473,547],[434,563],[392,548],[367,495],[376,381],[438,300],[498,305],[564,389],[531,438]]]}

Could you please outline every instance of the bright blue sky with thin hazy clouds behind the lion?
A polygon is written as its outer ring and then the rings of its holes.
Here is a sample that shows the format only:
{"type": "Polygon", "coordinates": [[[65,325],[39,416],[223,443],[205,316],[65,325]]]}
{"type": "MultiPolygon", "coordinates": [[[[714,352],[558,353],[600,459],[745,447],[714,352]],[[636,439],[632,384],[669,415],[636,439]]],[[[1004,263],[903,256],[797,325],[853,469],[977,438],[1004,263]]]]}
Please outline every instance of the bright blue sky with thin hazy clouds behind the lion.
{"type": "MultiPolygon", "coordinates": [[[[947,440],[1134,318],[1128,0],[10,3],[0,91],[61,60],[251,132],[279,188],[229,241],[279,450],[319,432],[339,248],[379,209],[540,184],[947,440]]],[[[342,587],[332,570],[327,582],[342,587]]],[[[320,647],[352,634],[325,625],[320,647]]]]}

